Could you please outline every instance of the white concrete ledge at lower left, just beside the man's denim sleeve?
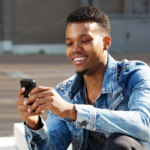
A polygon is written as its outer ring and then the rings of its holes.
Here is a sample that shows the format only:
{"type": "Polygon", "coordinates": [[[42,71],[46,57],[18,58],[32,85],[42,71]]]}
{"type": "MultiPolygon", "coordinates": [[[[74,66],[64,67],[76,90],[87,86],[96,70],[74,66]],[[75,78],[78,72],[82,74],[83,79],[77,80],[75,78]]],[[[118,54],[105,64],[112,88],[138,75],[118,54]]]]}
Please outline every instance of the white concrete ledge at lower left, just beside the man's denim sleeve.
{"type": "MultiPolygon", "coordinates": [[[[23,123],[14,124],[14,138],[15,138],[14,145],[18,150],[28,150],[26,140],[25,140],[23,123]]],[[[3,150],[9,150],[9,149],[3,149],[3,150]]],[[[15,149],[11,149],[11,150],[15,150],[15,149]]],[[[71,144],[67,150],[72,150],[71,144]]]]}

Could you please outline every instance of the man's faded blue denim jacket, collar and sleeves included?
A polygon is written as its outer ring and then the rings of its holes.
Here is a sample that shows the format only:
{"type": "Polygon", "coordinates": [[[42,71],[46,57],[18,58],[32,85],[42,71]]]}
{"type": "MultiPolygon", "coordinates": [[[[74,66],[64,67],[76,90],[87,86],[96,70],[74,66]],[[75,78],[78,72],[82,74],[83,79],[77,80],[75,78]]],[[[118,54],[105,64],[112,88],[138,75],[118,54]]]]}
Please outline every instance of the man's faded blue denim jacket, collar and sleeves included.
{"type": "Polygon", "coordinates": [[[140,61],[115,61],[108,54],[102,91],[96,108],[84,105],[81,96],[83,77],[74,75],[55,90],[75,104],[77,120],[60,118],[50,112],[37,131],[25,125],[29,150],[86,150],[89,130],[106,137],[122,133],[137,139],[150,150],[150,69],[140,61]]]}

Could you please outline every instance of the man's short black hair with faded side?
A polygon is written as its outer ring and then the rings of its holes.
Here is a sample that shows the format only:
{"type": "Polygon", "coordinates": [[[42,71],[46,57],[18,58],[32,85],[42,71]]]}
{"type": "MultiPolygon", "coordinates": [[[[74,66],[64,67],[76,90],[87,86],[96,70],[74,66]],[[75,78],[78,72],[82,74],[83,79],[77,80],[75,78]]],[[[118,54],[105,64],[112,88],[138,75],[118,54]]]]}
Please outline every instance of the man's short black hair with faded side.
{"type": "Polygon", "coordinates": [[[68,15],[66,24],[83,21],[97,22],[100,28],[110,35],[110,22],[107,15],[102,10],[92,6],[80,7],[68,15]]]}

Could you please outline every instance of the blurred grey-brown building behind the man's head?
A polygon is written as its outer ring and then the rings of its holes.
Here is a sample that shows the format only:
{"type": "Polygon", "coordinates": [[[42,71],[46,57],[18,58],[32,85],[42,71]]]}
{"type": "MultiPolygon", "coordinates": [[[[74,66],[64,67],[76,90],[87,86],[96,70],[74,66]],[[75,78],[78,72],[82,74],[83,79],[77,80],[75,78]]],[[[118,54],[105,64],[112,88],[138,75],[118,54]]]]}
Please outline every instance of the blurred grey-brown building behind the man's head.
{"type": "Polygon", "coordinates": [[[65,53],[66,18],[87,5],[110,19],[110,52],[150,52],[150,0],[0,0],[0,53],[65,53]]]}

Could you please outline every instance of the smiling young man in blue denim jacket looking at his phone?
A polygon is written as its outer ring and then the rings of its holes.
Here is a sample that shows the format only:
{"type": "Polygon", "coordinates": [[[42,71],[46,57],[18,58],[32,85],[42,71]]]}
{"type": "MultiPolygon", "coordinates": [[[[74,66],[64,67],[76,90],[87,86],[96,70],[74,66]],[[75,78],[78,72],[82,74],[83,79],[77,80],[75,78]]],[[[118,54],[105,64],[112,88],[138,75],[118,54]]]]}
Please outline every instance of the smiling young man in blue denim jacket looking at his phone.
{"type": "Polygon", "coordinates": [[[115,61],[110,45],[104,12],[88,6],[68,16],[66,54],[77,74],[55,90],[36,87],[28,99],[22,98],[25,88],[18,90],[30,150],[65,150],[70,143],[73,150],[150,149],[150,69],[115,61]],[[43,110],[50,110],[46,123],[43,110]]]}

